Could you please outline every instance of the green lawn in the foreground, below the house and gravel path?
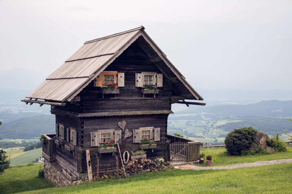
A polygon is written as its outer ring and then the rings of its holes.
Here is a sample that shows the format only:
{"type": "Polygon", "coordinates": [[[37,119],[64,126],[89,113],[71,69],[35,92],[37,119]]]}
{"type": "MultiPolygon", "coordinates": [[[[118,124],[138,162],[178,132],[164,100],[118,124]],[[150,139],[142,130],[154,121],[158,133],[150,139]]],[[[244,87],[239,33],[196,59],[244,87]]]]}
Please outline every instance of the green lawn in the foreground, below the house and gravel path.
{"type": "Polygon", "coordinates": [[[13,167],[0,175],[0,193],[291,193],[292,165],[231,170],[166,170],[57,188],[37,178],[40,165],[13,167]]]}

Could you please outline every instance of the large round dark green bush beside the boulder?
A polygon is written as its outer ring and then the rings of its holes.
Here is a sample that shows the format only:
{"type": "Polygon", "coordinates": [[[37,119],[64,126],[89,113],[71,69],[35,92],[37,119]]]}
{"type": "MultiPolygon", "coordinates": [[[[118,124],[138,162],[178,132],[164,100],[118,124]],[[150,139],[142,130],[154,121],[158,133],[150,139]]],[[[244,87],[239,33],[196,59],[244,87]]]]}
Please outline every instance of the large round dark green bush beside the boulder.
{"type": "Polygon", "coordinates": [[[245,127],[228,133],[225,138],[228,154],[240,155],[242,151],[250,149],[257,132],[253,127],[245,127]]]}

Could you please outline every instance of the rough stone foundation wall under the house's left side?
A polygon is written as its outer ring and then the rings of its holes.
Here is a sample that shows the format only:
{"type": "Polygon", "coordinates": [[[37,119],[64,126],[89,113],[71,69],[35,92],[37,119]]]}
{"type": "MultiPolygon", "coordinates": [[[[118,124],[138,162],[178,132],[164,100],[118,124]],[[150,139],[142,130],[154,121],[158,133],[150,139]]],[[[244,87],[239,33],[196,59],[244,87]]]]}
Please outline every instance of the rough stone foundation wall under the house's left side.
{"type": "Polygon", "coordinates": [[[62,172],[57,170],[46,160],[44,160],[44,177],[58,187],[72,185],[72,182],[69,181],[62,172]]]}

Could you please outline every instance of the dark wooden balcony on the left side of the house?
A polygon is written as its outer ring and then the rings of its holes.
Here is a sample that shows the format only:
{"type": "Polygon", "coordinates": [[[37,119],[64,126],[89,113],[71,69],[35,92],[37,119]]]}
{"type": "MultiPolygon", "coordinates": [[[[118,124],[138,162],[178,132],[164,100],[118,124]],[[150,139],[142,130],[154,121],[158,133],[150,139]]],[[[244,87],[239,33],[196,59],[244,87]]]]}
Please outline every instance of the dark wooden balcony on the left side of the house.
{"type": "Polygon", "coordinates": [[[46,134],[44,136],[46,137],[46,139],[43,140],[43,157],[46,158],[48,161],[54,161],[54,136],[56,136],[56,134],[46,134]]]}

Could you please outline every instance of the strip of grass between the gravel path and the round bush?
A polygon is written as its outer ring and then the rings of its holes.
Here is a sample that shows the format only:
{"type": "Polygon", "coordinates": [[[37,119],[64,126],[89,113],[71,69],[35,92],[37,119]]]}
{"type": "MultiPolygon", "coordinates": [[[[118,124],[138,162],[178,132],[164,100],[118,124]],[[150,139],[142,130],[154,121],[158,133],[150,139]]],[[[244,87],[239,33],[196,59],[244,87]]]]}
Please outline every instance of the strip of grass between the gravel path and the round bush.
{"type": "MultiPolygon", "coordinates": [[[[201,149],[200,153],[205,154],[205,160],[206,160],[206,156],[212,155],[214,166],[292,158],[291,147],[288,147],[286,152],[279,152],[276,154],[269,154],[269,155],[254,155],[254,156],[227,156],[225,148],[201,149]]],[[[205,166],[205,165],[206,165],[206,162],[204,164],[200,164],[200,166],[205,166]]]]}

